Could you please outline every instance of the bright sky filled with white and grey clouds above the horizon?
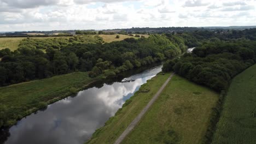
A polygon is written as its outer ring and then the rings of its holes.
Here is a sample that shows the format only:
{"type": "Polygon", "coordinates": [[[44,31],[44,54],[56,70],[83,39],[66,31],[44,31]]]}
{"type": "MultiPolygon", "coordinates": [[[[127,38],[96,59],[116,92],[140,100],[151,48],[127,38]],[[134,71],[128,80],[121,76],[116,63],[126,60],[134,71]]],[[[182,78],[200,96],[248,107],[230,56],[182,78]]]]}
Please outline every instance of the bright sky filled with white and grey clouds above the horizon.
{"type": "Polygon", "coordinates": [[[0,31],[255,26],[256,0],[0,0],[0,31]]]}

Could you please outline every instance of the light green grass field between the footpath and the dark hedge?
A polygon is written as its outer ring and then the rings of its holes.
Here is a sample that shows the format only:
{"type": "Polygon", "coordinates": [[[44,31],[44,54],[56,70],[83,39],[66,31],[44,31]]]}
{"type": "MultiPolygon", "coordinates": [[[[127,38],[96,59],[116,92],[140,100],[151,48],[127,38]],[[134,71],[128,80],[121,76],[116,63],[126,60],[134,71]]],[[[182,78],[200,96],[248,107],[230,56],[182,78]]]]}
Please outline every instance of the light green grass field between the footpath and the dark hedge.
{"type": "Polygon", "coordinates": [[[218,93],[174,75],[122,143],[205,143],[218,93]]]}

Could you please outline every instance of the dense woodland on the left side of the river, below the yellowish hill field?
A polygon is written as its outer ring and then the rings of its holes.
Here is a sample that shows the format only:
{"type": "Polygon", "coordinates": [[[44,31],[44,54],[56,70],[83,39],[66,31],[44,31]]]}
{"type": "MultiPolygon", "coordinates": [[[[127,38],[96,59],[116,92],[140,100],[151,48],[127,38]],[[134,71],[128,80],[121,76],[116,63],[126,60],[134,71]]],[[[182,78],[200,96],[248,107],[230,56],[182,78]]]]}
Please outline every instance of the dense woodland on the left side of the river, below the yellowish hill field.
{"type": "Polygon", "coordinates": [[[185,51],[183,44],[171,43],[165,35],[138,40],[130,38],[109,44],[79,43],[80,37],[77,38],[25,39],[14,52],[1,50],[0,86],[72,71],[91,71],[91,77],[112,76],[185,51]],[[46,49],[46,53],[40,49],[46,49]]]}

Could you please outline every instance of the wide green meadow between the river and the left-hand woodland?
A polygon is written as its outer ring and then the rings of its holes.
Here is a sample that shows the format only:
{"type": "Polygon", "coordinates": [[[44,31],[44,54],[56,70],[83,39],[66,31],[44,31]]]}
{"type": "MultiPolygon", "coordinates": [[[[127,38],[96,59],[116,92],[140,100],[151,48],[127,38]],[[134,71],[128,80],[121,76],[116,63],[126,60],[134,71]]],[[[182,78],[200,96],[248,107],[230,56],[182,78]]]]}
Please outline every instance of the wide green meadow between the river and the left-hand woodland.
{"type": "Polygon", "coordinates": [[[0,87],[0,109],[7,108],[5,125],[15,124],[16,119],[65,98],[95,80],[86,72],[78,72],[0,87]]]}

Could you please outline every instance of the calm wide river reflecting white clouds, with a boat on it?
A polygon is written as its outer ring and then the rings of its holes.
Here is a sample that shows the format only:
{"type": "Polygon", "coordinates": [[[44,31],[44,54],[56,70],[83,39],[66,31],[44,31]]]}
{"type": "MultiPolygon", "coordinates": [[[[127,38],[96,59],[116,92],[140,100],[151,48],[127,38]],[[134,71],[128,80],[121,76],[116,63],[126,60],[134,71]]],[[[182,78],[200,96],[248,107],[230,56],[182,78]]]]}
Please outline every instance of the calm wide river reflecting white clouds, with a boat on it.
{"type": "Polygon", "coordinates": [[[116,79],[95,83],[94,87],[48,105],[47,109],[32,113],[13,127],[1,130],[0,143],[84,143],[161,68],[159,65],[144,71],[130,71],[116,79]],[[122,83],[124,77],[135,81],[122,83]]]}

